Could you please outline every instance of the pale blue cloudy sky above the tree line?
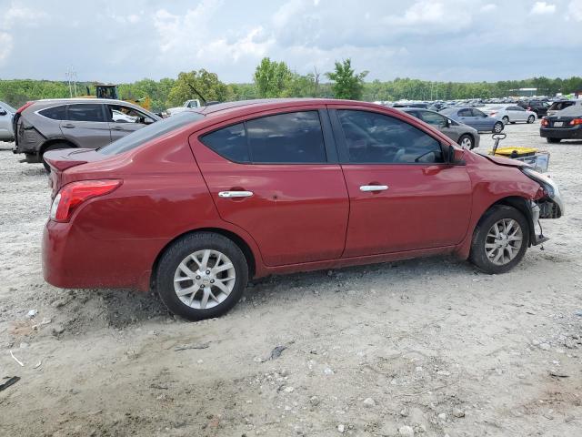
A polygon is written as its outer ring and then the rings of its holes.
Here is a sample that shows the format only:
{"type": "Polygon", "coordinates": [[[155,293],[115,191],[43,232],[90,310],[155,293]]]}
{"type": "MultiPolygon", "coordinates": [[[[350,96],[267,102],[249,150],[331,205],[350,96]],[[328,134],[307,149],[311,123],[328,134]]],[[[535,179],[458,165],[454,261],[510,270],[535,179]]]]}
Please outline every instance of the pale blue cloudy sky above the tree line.
{"type": "Polygon", "coordinates": [[[0,79],[251,82],[352,59],[366,80],[582,76],[582,0],[0,0],[0,79]]]}

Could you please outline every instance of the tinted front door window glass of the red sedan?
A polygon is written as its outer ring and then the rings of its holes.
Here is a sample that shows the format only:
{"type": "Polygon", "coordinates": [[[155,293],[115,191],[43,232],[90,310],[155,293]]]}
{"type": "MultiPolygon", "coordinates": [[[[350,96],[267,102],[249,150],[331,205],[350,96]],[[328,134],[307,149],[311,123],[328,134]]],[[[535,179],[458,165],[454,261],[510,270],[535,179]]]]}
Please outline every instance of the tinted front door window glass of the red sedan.
{"type": "Polygon", "coordinates": [[[440,143],[396,117],[337,110],[351,163],[420,164],[444,162],[440,143]]]}

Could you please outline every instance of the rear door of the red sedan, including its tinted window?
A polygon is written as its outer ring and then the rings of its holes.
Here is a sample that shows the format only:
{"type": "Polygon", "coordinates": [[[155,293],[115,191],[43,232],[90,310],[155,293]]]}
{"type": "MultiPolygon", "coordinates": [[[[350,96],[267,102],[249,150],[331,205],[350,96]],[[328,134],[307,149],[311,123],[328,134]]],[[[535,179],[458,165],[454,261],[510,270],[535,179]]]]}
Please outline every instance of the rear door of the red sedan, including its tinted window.
{"type": "Polygon", "coordinates": [[[349,202],[325,110],[264,113],[190,137],[220,217],[267,266],[337,259],[349,202]]]}

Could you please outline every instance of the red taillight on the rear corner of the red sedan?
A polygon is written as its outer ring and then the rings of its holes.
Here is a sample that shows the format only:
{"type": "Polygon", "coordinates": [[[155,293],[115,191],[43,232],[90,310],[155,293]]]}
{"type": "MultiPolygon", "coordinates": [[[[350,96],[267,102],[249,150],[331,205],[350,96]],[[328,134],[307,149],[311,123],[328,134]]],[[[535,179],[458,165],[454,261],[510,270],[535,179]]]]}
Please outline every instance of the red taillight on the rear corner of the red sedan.
{"type": "Polygon", "coordinates": [[[71,182],[61,188],[53,199],[51,206],[51,220],[69,221],[75,208],[89,198],[96,198],[111,193],[121,185],[121,180],[80,180],[71,182]]]}

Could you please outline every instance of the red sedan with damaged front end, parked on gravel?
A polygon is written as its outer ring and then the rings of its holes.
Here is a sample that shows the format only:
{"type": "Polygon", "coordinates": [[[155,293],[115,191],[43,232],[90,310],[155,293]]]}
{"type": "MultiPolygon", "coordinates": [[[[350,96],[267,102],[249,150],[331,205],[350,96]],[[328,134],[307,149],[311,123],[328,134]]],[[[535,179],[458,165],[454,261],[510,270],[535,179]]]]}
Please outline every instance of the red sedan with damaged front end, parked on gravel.
{"type": "Polygon", "coordinates": [[[187,111],[100,149],[47,152],[45,279],[155,289],[190,320],[249,278],[437,254],[513,268],[564,207],[519,161],[373,104],[288,99],[187,111]]]}

